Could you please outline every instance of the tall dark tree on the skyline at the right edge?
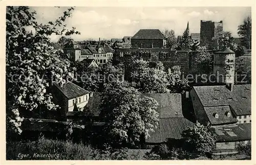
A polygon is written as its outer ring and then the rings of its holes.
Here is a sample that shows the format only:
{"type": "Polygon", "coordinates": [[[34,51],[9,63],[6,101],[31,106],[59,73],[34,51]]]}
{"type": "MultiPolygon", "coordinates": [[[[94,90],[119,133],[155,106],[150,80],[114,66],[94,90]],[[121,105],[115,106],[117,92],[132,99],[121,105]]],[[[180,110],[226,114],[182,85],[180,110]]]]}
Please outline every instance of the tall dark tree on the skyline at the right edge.
{"type": "Polygon", "coordinates": [[[251,17],[244,19],[242,25],[238,26],[238,35],[242,37],[242,45],[251,49],[251,17]]]}

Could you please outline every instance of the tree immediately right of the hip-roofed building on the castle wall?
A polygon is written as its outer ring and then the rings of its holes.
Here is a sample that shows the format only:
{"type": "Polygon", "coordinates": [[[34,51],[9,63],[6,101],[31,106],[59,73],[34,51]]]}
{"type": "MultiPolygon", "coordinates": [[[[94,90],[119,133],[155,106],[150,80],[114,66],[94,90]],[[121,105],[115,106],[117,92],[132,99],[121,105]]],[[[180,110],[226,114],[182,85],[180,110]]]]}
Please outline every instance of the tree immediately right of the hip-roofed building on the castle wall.
{"type": "Polygon", "coordinates": [[[177,41],[177,38],[175,37],[174,30],[165,29],[163,31],[163,35],[166,38],[165,47],[171,50],[175,50],[176,47],[178,46],[178,41],[177,41]]]}

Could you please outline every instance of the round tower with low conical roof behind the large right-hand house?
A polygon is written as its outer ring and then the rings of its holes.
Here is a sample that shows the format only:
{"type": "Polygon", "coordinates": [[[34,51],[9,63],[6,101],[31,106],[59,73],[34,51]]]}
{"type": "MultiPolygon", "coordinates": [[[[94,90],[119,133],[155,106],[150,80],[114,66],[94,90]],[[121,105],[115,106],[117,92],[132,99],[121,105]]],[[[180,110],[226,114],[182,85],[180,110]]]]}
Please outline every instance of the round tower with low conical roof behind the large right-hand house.
{"type": "Polygon", "coordinates": [[[218,51],[214,54],[214,74],[216,81],[220,84],[226,84],[230,91],[234,85],[234,64],[235,54],[229,48],[218,51]]]}

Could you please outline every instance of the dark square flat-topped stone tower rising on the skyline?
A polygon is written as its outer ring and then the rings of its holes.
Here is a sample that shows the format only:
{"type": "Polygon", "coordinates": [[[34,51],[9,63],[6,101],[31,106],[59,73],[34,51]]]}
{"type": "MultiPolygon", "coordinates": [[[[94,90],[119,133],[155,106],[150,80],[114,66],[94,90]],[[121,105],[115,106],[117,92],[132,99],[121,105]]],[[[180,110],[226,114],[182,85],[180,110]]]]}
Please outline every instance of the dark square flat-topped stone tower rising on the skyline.
{"type": "Polygon", "coordinates": [[[200,26],[200,45],[209,46],[209,49],[216,47],[215,41],[212,38],[216,37],[223,31],[223,21],[214,22],[208,20],[201,20],[200,26]]]}

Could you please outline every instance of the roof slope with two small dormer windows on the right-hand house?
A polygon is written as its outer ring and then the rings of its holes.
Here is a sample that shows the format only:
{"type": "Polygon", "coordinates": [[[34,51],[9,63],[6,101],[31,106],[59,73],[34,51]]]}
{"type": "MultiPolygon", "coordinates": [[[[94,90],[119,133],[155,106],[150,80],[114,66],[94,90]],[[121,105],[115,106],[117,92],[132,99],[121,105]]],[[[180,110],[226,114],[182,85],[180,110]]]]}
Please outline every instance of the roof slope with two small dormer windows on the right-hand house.
{"type": "Polygon", "coordinates": [[[208,116],[211,125],[230,124],[238,122],[237,118],[232,115],[229,106],[205,107],[204,110],[208,116]],[[227,116],[227,112],[230,113],[230,117],[227,116]],[[215,117],[216,113],[218,114],[218,118],[215,117]]]}

